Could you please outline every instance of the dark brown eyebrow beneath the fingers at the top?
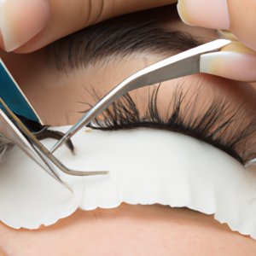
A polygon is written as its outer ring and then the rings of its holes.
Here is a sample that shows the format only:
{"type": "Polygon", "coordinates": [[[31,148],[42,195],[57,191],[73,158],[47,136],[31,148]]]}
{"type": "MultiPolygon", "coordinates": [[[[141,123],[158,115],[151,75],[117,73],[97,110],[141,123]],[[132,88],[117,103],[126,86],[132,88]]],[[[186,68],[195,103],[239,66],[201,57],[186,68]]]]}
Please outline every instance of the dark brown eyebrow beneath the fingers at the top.
{"type": "Polygon", "coordinates": [[[163,9],[122,15],[86,27],[49,45],[49,55],[58,71],[87,67],[110,60],[121,60],[132,54],[170,55],[194,48],[201,43],[188,32],[161,27],[166,20],[163,9]]]}

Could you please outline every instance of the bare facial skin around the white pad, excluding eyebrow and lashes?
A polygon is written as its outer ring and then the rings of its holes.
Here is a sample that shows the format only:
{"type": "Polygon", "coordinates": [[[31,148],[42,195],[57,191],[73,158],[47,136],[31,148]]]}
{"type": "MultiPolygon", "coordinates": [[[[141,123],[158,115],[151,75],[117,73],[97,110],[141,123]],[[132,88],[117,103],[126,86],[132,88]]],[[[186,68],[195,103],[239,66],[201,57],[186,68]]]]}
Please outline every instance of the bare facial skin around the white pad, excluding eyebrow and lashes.
{"type": "MultiPolygon", "coordinates": [[[[172,19],[163,26],[200,34],[206,41],[217,38],[215,31],[196,28],[190,30],[172,10],[172,19]]],[[[104,96],[116,84],[147,67],[163,56],[132,55],[119,63],[110,62],[107,67],[88,67],[73,74],[52,73],[45,62],[46,49],[29,55],[1,52],[1,57],[14,75],[21,89],[42,117],[45,124],[74,124],[83,111],[83,99],[90,103],[84,86],[93,84],[104,96]],[[22,65],[21,65],[22,63],[22,65]],[[84,83],[83,81],[86,81],[84,83]],[[84,84],[83,84],[84,83],[84,84]],[[102,84],[104,84],[102,86],[102,84]],[[47,104],[45,104],[47,102],[47,104]]],[[[165,56],[166,57],[166,56],[165,56]]],[[[189,88],[193,83],[204,81],[202,102],[207,96],[232,96],[234,104],[245,99],[247,108],[255,109],[255,90],[251,84],[221,79],[211,75],[196,74],[187,79],[175,79],[164,83],[160,92],[163,102],[161,113],[167,106],[166,95],[172,94],[173,85],[183,82],[189,88]],[[166,106],[165,106],[166,104],[166,106]]],[[[90,87],[88,88],[90,89],[90,87]]],[[[143,99],[147,88],[132,94],[143,99]]],[[[129,206],[122,204],[114,209],[77,211],[61,219],[57,224],[39,230],[13,230],[0,224],[0,246],[3,255],[254,255],[256,242],[247,236],[231,231],[219,224],[212,216],[186,208],[171,208],[160,205],[129,206]]],[[[1,253],[1,251],[0,251],[1,253]]]]}

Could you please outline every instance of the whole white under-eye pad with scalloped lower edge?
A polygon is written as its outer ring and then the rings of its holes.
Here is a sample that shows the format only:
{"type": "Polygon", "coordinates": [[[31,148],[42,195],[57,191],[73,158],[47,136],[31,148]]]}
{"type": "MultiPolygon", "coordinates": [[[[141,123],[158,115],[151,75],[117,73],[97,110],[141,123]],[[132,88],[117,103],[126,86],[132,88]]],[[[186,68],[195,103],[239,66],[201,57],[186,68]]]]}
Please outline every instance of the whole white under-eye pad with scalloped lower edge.
{"type": "MultiPolygon", "coordinates": [[[[58,127],[67,131],[69,127],[58,127]]],[[[171,131],[79,131],[76,155],[61,147],[55,156],[81,171],[108,175],[61,179],[57,183],[19,148],[8,154],[0,172],[0,220],[10,227],[37,229],[54,224],[78,207],[118,207],[160,203],[214,213],[231,230],[256,239],[256,168],[246,169],[218,148],[171,131]]],[[[45,140],[51,147],[51,140],[45,140]]]]}

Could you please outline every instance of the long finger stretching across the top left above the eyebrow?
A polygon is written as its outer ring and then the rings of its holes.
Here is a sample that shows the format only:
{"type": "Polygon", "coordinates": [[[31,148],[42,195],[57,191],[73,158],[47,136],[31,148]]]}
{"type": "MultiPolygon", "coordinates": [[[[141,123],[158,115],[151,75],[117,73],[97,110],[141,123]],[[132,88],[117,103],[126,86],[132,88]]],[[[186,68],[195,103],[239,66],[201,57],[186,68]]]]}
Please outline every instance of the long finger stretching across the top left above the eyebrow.
{"type": "Polygon", "coordinates": [[[0,47],[7,51],[15,49],[17,53],[40,49],[85,26],[113,16],[177,2],[177,0],[0,1],[2,1],[0,28],[3,34],[2,44],[0,36],[0,47]]]}

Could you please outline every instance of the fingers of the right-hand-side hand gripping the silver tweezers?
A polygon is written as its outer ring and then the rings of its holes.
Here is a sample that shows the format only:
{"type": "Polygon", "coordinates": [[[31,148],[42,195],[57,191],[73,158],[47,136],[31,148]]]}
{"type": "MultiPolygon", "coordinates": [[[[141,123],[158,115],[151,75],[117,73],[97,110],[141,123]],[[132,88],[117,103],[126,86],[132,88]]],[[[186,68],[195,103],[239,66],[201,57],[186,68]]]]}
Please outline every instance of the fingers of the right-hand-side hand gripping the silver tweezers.
{"type": "Polygon", "coordinates": [[[186,24],[229,30],[247,45],[231,44],[216,55],[208,55],[201,72],[256,81],[255,0],[179,0],[177,9],[186,24]]]}

